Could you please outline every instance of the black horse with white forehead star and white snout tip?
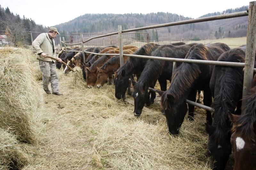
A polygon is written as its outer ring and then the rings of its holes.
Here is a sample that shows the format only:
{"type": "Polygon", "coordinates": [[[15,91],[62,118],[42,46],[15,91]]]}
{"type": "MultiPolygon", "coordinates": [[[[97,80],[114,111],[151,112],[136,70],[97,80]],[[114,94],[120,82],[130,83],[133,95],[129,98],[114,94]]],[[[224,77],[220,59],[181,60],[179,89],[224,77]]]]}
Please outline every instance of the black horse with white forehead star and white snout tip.
{"type": "MultiPolygon", "coordinates": [[[[161,45],[151,55],[172,58],[185,58],[186,54],[188,53],[188,50],[193,45],[195,45],[195,43],[180,46],[174,46],[172,44],[161,45]]],[[[156,85],[156,81],[158,79],[158,82],[161,86],[161,90],[165,91],[167,85],[166,80],[171,80],[171,78],[172,62],[153,59],[147,61],[137,83],[132,81],[132,96],[134,98],[133,113],[135,116],[141,115],[142,108],[144,107],[144,104],[148,101],[148,87],[154,88],[156,85]]],[[[150,101],[151,103],[153,103],[154,99],[150,101]]]]}

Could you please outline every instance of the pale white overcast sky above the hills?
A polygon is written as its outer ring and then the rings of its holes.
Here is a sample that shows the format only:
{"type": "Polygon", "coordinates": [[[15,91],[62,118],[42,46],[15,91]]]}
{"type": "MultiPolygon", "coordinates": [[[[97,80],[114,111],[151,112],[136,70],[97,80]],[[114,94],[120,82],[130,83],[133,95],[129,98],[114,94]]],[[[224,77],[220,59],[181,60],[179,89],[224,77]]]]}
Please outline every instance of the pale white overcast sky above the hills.
{"type": "Polygon", "coordinates": [[[169,12],[198,18],[204,14],[249,5],[249,0],[0,0],[13,14],[33,19],[36,24],[53,26],[68,22],[85,13],[151,13],[169,12]]]}

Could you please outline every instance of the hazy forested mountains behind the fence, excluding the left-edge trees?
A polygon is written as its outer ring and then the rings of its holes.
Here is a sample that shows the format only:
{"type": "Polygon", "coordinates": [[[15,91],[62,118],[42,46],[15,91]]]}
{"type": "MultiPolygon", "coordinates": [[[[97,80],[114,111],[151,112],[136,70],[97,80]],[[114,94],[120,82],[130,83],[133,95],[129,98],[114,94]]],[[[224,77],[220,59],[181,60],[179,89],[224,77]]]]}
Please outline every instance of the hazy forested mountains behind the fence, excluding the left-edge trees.
{"type": "MultiPolygon", "coordinates": [[[[227,9],[222,12],[208,13],[202,17],[246,11],[248,6],[227,9]]],[[[180,39],[218,39],[224,37],[242,37],[247,32],[247,16],[216,21],[186,24],[146,30],[151,41],[166,41],[180,39]],[[157,33],[157,36],[156,36],[157,33]]],[[[149,14],[84,14],[66,23],[56,25],[62,34],[71,33],[111,33],[122,25],[123,30],[142,26],[151,26],[191,18],[181,15],[157,12],[149,14]]],[[[144,31],[145,32],[145,31],[144,31]]]]}

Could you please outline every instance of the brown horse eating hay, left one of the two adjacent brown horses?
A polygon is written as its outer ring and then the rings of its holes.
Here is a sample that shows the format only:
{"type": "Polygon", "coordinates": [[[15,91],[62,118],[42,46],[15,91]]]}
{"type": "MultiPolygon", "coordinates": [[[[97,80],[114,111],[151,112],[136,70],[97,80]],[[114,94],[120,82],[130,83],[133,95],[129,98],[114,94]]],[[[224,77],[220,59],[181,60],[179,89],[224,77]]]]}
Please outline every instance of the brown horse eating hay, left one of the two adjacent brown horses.
{"type": "MultiPolygon", "coordinates": [[[[118,54],[119,50],[114,49],[107,52],[108,54],[118,54]]],[[[97,67],[102,66],[108,59],[112,58],[113,55],[103,55],[100,57],[97,61],[92,63],[92,66],[90,68],[85,67],[86,69],[86,82],[87,87],[92,88],[97,80],[97,67]]],[[[110,81],[110,80],[109,80],[110,81]]]]}

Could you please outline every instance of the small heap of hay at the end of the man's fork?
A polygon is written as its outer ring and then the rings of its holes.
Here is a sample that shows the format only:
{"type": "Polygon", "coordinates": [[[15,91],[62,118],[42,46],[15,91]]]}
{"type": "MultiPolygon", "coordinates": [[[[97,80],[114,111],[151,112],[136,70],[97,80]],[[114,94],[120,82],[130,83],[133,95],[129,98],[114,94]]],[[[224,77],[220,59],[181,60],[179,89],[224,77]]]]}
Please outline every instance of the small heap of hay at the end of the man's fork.
{"type": "Polygon", "coordinates": [[[80,67],[75,67],[74,72],[69,72],[68,76],[71,77],[71,85],[78,87],[78,88],[87,88],[86,82],[84,81],[83,78],[83,72],[80,67]]]}

